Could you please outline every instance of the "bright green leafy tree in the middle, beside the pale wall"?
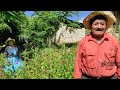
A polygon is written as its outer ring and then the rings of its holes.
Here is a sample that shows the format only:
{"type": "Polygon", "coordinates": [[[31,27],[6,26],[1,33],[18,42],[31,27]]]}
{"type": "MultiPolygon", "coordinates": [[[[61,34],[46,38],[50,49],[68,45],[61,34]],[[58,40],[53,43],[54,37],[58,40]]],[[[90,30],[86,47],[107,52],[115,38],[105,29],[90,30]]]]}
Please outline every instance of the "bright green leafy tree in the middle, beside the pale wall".
{"type": "Polygon", "coordinates": [[[21,25],[21,34],[19,37],[28,41],[29,47],[48,46],[51,37],[59,29],[61,22],[64,22],[71,27],[79,27],[78,23],[73,23],[66,18],[74,13],[77,12],[35,11],[34,15],[27,17],[25,24],[21,25]]]}

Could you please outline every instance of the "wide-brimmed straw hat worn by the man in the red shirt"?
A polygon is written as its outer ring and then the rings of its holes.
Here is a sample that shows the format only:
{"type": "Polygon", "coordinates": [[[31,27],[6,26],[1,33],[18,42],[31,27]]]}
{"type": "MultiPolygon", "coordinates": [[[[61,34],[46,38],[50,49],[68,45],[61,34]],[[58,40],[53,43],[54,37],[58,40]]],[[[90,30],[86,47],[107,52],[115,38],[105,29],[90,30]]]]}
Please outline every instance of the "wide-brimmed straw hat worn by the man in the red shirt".
{"type": "Polygon", "coordinates": [[[97,15],[103,15],[107,19],[106,29],[116,22],[116,17],[110,11],[93,11],[83,20],[83,25],[86,29],[91,29],[90,20],[97,15]]]}

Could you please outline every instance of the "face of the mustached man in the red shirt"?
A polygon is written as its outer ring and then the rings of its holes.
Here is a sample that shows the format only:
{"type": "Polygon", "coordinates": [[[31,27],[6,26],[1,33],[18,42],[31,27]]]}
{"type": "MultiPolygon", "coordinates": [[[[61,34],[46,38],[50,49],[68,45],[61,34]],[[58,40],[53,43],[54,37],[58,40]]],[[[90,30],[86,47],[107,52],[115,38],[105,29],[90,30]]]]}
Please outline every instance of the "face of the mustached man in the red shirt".
{"type": "Polygon", "coordinates": [[[96,37],[101,37],[106,32],[106,21],[96,19],[91,26],[92,34],[96,37]]]}

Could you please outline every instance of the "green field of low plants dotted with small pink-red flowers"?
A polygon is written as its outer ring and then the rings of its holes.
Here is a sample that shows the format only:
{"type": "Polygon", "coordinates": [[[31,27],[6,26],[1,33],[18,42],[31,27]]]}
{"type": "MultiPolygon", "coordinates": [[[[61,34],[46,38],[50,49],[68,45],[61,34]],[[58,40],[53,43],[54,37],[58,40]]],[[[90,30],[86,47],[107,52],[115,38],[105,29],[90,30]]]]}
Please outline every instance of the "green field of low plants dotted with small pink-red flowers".
{"type": "MultiPolygon", "coordinates": [[[[23,51],[24,67],[16,73],[1,72],[4,76],[1,79],[72,79],[73,64],[77,44],[72,47],[65,45],[57,48],[31,49],[31,56],[28,51],[23,51]]],[[[4,55],[0,54],[3,67],[4,55]]]]}

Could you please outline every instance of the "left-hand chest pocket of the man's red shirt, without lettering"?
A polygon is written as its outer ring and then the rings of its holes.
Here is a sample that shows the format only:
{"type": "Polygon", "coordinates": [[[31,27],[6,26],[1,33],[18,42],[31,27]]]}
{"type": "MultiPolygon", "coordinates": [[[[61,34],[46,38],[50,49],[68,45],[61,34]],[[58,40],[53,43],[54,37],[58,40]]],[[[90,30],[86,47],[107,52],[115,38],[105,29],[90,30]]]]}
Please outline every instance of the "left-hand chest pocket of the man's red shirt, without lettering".
{"type": "Polygon", "coordinates": [[[95,52],[87,51],[84,53],[84,65],[88,68],[94,69],[95,67],[95,52]]]}

